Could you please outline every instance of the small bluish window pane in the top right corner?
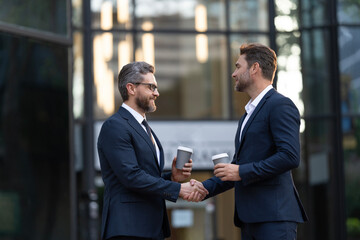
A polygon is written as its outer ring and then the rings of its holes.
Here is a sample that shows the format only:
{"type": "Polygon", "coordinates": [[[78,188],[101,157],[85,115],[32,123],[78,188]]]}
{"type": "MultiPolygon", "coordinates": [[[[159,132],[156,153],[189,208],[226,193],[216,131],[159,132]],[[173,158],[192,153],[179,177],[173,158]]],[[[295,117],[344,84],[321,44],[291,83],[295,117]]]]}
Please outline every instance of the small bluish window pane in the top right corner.
{"type": "Polygon", "coordinates": [[[359,2],[353,0],[338,0],[337,15],[340,23],[360,23],[359,2]]]}

